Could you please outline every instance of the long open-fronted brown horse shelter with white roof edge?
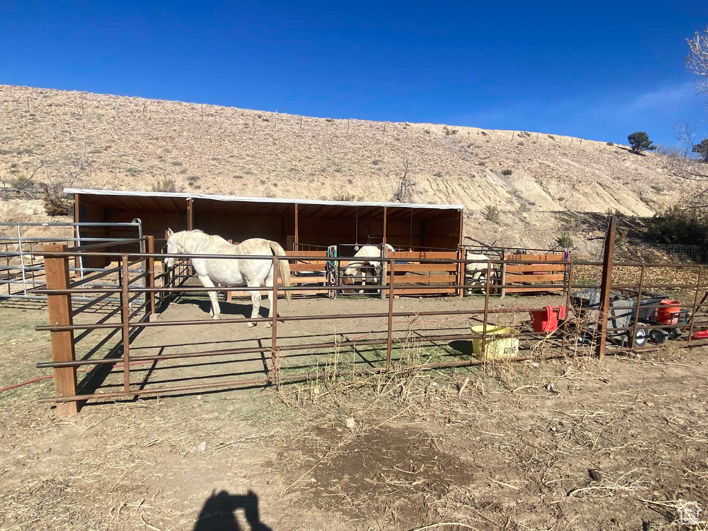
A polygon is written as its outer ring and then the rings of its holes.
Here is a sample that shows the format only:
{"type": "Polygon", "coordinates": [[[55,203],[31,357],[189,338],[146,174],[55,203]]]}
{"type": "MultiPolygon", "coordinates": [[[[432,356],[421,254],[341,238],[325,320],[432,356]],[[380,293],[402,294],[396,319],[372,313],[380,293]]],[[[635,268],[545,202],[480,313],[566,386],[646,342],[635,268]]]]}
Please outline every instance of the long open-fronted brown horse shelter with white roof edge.
{"type": "MultiPolygon", "coordinates": [[[[142,221],[143,234],[164,238],[201,229],[233,241],[259,237],[287,251],[310,246],[390,244],[399,249],[457,249],[462,244],[462,205],[247,198],[195,193],[65,188],[74,196],[75,222],[142,221]]],[[[120,227],[95,237],[120,238],[120,227]]],[[[125,237],[128,237],[127,235],[125,237]]]]}

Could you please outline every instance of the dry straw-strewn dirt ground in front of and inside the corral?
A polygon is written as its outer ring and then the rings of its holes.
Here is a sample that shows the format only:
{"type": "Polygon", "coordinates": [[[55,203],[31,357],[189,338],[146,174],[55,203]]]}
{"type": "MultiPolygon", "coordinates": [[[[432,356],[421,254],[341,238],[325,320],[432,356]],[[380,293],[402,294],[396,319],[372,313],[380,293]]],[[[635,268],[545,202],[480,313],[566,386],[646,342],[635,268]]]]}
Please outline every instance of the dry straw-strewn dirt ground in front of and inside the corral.
{"type": "MultiPolygon", "coordinates": [[[[383,312],[387,303],[295,301],[282,314],[295,304],[298,313],[329,314],[383,312]]],[[[474,304],[399,299],[394,309],[474,304]]],[[[34,367],[50,357],[49,334],[34,330],[45,310],[23,306],[0,306],[0,387],[49,374],[34,367]]],[[[222,308],[224,317],[248,310],[222,308]]],[[[161,319],[201,319],[205,310],[204,299],[182,299],[161,319]]],[[[522,328],[527,321],[497,317],[522,328]]],[[[438,319],[418,320],[416,330],[461,333],[471,324],[438,319]]],[[[396,326],[406,334],[411,325],[396,326]]],[[[283,343],[314,343],[377,337],[384,327],[383,319],[300,321],[279,333],[289,337],[283,343]]],[[[148,329],[133,351],[268,338],[262,325],[148,329]]],[[[446,343],[407,349],[396,357],[469,355],[446,343]]],[[[706,354],[669,343],[602,361],[569,350],[561,360],[426,372],[401,363],[392,375],[331,379],[325,367],[377,365],[380,349],[306,351],[282,366],[296,372],[318,362],[322,376],[304,384],[106,401],[70,418],[38,404],[52,394],[45,379],[0,393],[0,530],[677,529],[683,503],[708,510],[706,354]]],[[[263,375],[267,360],[234,358],[136,367],[132,383],[263,375]]],[[[706,528],[701,520],[695,528],[706,528]]]]}

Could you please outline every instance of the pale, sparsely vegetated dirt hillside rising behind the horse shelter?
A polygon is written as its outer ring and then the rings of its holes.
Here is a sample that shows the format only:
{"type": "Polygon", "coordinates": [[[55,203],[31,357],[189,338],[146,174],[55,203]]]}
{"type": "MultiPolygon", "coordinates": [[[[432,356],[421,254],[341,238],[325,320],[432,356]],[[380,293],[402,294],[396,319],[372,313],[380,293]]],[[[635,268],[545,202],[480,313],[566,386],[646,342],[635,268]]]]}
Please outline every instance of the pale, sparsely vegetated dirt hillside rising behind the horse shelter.
{"type": "Polygon", "coordinates": [[[44,163],[36,180],[80,165],[74,185],[86,188],[151,190],[173,177],[202,193],[385,201],[409,161],[416,202],[464,204],[467,235],[489,243],[552,245],[569,213],[651,216],[686,186],[670,181],[654,154],[537,132],[2,85],[0,113],[4,181],[44,163]],[[481,215],[487,205],[501,211],[498,221],[481,215]]]}

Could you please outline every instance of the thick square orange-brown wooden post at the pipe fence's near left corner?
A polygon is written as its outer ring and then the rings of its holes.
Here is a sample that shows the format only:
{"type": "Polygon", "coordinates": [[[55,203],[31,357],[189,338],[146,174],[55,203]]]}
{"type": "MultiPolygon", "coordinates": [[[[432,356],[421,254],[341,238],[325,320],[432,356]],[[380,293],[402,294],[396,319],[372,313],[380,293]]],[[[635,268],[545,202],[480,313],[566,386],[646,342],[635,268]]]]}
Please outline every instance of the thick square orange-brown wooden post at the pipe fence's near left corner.
{"type": "MultiPolygon", "coordinates": [[[[62,253],[67,251],[64,244],[47,244],[44,246],[47,253],[62,253]]],[[[69,287],[69,258],[59,256],[45,258],[45,275],[48,290],[66,290],[69,287]]],[[[49,307],[49,324],[72,325],[72,295],[47,295],[49,307]]],[[[52,339],[52,361],[74,361],[74,332],[50,332],[52,339]]],[[[76,396],[76,367],[60,367],[54,370],[54,388],[57,398],[62,396],[76,396]]],[[[79,413],[79,403],[57,402],[57,416],[76,415],[79,413]]]]}

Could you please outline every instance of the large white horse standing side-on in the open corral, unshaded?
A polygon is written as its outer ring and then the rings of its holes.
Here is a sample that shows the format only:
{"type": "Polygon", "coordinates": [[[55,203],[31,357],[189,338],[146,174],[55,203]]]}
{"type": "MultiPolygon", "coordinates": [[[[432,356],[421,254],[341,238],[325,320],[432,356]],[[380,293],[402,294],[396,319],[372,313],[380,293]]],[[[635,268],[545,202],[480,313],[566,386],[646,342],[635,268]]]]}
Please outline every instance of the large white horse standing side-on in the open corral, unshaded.
{"type": "MultiPolygon", "coordinates": [[[[169,254],[230,254],[237,256],[282,256],[278,261],[278,276],[280,285],[290,286],[290,265],[285,258],[285,251],[275,241],[261,238],[251,238],[233,245],[221,236],[210,236],[200,230],[172,232],[167,229],[167,253],[169,254]]],[[[174,266],[174,258],[165,258],[167,269],[174,266]]],[[[266,287],[273,287],[273,262],[264,259],[248,258],[193,258],[194,270],[204,287],[214,287],[215,283],[226,286],[261,287],[265,282],[266,287]]],[[[217,292],[208,292],[212,302],[210,315],[219,319],[219,298],[217,292]]],[[[285,292],[285,298],[290,301],[290,292],[285,292]]],[[[268,292],[270,312],[268,317],[273,317],[273,292],[268,292]]],[[[251,291],[253,310],[251,319],[258,317],[261,309],[261,292],[251,291]]],[[[256,323],[249,323],[256,326],[256,323]]],[[[268,322],[265,326],[272,326],[268,322]]]]}

